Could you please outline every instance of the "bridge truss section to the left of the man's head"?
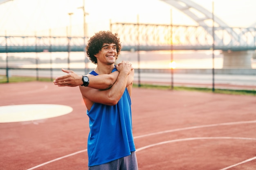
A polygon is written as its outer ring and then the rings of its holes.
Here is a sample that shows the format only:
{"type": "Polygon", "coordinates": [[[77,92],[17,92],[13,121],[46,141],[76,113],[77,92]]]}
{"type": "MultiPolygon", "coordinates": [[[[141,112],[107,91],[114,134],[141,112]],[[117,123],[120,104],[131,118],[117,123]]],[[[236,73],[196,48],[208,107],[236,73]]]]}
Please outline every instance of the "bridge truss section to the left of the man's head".
{"type": "Polygon", "coordinates": [[[0,52],[68,52],[84,49],[84,37],[0,36],[0,52]]]}

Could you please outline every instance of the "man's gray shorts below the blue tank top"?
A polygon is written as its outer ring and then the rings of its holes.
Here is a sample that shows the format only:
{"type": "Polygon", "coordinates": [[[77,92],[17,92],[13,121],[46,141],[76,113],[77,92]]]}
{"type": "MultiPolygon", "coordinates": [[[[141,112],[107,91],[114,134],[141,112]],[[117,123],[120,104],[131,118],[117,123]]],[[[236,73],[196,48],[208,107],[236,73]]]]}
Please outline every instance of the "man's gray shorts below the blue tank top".
{"type": "Polygon", "coordinates": [[[131,152],[131,155],[127,157],[97,166],[89,166],[88,170],[138,170],[136,154],[131,152]]]}

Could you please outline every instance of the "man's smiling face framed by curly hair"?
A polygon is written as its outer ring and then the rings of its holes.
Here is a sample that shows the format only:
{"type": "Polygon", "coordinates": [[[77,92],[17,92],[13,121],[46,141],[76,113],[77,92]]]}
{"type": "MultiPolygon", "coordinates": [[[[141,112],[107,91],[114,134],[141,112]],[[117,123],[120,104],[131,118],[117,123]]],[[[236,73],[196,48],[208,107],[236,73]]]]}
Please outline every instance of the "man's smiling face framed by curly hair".
{"type": "Polygon", "coordinates": [[[97,57],[97,63],[113,64],[117,59],[117,46],[114,43],[104,43],[101,50],[94,56],[97,57]]]}

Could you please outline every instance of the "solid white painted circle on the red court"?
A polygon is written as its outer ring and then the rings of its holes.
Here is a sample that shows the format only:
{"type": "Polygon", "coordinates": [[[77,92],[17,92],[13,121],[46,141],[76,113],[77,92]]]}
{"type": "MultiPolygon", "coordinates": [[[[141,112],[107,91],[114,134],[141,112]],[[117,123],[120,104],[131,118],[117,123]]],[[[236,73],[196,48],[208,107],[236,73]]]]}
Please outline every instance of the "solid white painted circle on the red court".
{"type": "Polygon", "coordinates": [[[72,107],[65,105],[36,104],[0,106],[0,123],[54,118],[72,111],[72,107]]]}

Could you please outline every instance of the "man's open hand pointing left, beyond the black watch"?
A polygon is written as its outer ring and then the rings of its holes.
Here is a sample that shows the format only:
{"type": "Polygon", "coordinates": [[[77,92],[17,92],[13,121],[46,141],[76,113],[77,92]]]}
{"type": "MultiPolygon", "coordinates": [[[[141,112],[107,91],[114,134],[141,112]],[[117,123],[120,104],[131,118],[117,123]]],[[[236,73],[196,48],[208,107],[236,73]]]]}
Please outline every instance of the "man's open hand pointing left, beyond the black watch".
{"type": "Polygon", "coordinates": [[[61,70],[67,74],[56,77],[53,81],[54,85],[75,87],[83,84],[82,76],[77,75],[72,70],[61,70]]]}

